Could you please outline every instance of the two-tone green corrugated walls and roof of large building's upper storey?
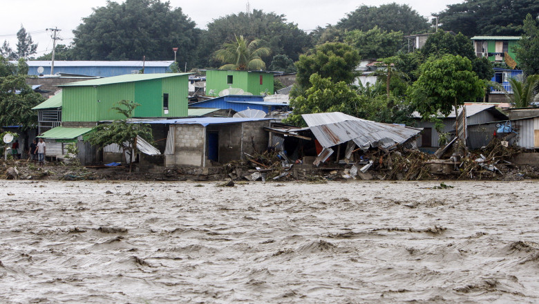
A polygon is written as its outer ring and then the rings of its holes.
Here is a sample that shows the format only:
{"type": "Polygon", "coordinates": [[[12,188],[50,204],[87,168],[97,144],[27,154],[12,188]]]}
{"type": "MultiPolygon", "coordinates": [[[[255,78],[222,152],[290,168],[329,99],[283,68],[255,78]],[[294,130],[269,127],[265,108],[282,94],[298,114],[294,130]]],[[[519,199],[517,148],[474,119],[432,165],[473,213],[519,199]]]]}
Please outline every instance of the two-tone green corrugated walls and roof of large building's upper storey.
{"type": "Polygon", "coordinates": [[[62,122],[123,119],[111,110],[123,99],[140,104],[133,117],[187,116],[189,74],[131,74],[63,84],[62,122]]]}

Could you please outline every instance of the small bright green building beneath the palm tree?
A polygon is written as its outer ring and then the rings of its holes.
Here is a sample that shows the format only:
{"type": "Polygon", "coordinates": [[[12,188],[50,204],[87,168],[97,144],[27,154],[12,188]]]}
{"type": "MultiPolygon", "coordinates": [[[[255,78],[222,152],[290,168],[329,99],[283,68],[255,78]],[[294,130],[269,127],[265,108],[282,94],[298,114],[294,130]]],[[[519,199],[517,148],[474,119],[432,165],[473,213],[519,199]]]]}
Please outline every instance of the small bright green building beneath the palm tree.
{"type": "Polygon", "coordinates": [[[253,95],[261,95],[267,90],[273,94],[273,73],[262,70],[207,70],[206,94],[214,90],[217,96],[225,88],[241,88],[253,95]]]}

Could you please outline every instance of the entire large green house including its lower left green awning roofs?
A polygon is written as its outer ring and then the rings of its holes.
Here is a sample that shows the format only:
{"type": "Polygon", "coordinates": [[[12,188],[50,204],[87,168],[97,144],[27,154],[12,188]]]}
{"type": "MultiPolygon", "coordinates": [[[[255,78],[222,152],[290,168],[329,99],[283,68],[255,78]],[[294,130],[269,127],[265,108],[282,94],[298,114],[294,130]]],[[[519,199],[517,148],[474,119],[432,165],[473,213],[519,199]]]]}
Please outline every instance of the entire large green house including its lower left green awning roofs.
{"type": "Polygon", "coordinates": [[[111,109],[121,100],[140,104],[133,117],[187,117],[189,75],[131,74],[59,85],[61,93],[33,108],[46,154],[64,155],[68,142],[78,145],[98,122],[124,119],[111,109]]]}

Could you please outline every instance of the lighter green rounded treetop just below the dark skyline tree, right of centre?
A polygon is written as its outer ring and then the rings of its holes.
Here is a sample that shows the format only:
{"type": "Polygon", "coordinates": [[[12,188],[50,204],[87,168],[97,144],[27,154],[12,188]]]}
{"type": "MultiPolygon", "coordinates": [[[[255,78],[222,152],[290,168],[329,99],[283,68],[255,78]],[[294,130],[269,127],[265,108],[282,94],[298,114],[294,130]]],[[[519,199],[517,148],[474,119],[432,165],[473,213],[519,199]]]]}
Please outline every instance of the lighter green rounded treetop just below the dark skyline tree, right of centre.
{"type": "Polygon", "coordinates": [[[397,55],[401,48],[402,32],[381,30],[378,26],[362,31],[351,30],[346,33],[345,41],[359,51],[363,59],[378,59],[397,55]]]}

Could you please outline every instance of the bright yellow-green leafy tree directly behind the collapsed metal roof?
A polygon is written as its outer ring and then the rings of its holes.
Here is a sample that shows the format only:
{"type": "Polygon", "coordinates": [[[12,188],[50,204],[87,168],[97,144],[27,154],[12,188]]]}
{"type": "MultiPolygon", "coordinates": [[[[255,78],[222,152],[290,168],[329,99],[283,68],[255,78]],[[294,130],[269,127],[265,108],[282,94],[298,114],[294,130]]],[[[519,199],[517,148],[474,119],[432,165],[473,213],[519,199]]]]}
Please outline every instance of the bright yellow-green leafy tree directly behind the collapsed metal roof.
{"type": "Polygon", "coordinates": [[[355,115],[360,108],[359,96],[346,82],[334,83],[332,79],[315,73],[310,77],[310,84],[304,95],[290,101],[294,110],[285,123],[306,126],[301,114],[337,111],[355,115]]]}

